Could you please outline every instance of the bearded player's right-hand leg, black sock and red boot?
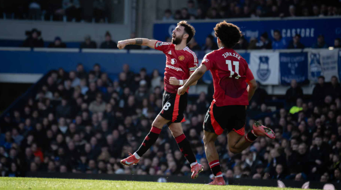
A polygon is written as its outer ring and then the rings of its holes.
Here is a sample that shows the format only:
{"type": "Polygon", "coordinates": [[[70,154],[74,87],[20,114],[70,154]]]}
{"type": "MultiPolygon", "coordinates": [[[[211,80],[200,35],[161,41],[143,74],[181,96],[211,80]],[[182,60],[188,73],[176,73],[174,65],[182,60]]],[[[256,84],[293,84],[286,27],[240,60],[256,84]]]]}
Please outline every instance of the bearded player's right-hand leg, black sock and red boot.
{"type": "Polygon", "coordinates": [[[178,143],[180,151],[185,158],[191,164],[192,178],[197,178],[199,172],[203,170],[203,166],[198,164],[197,159],[191,148],[190,141],[186,138],[181,123],[172,123],[169,126],[169,130],[172,132],[173,137],[178,143]]]}

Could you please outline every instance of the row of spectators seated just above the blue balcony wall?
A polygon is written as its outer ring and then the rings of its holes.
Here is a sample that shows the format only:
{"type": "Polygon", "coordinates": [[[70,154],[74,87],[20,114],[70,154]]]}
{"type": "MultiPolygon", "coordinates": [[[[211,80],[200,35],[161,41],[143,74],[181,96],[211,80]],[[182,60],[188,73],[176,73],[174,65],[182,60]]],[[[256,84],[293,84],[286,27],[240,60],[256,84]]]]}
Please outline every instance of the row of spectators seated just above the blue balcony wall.
{"type": "MultiPolygon", "coordinates": [[[[41,38],[41,31],[37,29],[32,29],[31,31],[26,32],[27,38],[23,42],[23,47],[44,47],[44,41],[41,38]]],[[[117,43],[113,40],[110,32],[106,32],[105,41],[101,43],[101,49],[118,49],[117,43]]],[[[135,33],[130,34],[130,38],[136,38],[135,33]]],[[[263,33],[259,39],[251,38],[248,42],[244,37],[242,37],[238,44],[236,44],[233,49],[235,50],[254,50],[254,49],[303,49],[306,46],[300,42],[301,36],[296,34],[290,42],[287,42],[282,38],[281,32],[279,30],[274,31],[274,37],[271,39],[267,32],[263,33]]],[[[172,42],[170,37],[165,38],[165,42],[172,42]]],[[[334,44],[327,44],[324,41],[324,36],[317,36],[317,40],[311,48],[329,48],[329,46],[333,48],[341,48],[341,39],[334,39],[334,44]]],[[[66,44],[62,42],[59,36],[56,36],[54,41],[48,45],[49,48],[66,48],[66,44]]],[[[87,35],[84,37],[84,42],[80,43],[79,48],[97,48],[97,43],[91,40],[91,36],[87,35]]],[[[208,35],[205,40],[205,44],[200,45],[197,43],[195,38],[188,43],[188,47],[193,51],[206,51],[206,50],[216,50],[218,49],[218,45],[214,36],[208,35]]],[[[141,46],[138,45],[128,45],[125,49],[141,49],[141,46]]],[[[150,49],[146,47],[145,49],[150,49]]]]}

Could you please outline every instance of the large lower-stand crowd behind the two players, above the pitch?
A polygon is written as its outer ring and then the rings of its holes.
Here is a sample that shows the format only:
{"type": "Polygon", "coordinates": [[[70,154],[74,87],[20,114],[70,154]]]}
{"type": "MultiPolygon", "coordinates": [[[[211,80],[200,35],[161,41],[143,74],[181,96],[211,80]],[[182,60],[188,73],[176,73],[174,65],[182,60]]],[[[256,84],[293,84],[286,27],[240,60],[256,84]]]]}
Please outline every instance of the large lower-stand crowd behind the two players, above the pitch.
{"type": "MultiPolygon", "coordinates": [[[[151,76],[146,69],[133,73],[128,64],[115,81],[99,64],[90,72],[82,64],[74,71],[50,72],[23,108],[0,121],[0,176],[46,171],[189,177],[190,165],[166,127],[137,165],[123,167],[119,162],[137,150],[161,111],[162,80],[157,70],[151,76]]],[[[204,165],[200,173],[204,176],[211,170],[202,124],[212,94],[211,84],[208,94],[192,97],[183,123],[197,161],[204,165]]],[[[293,80],[285,106],[271,112],[265,101],[273,98],[258,83],[245,130],[257,119],[275,131],[276,139],[259,137],[241,154],[233,154],[227,134],[220,135],[216,147],[225,177],[339,182],[340,95],[334,76],[331,83],[319,77],[311,98],[293,80]]]]}

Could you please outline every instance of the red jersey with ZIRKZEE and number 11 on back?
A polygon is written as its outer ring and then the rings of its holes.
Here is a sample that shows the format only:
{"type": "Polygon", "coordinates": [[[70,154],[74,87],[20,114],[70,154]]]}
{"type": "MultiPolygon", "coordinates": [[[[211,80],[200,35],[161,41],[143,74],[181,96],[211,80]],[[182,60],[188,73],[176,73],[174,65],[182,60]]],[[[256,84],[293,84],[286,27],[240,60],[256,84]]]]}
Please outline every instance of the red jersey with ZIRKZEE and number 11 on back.
{"type": "Polygon", "coordinates": [[[233,49],[220,48],[205,55],[202,64],[213,76],[213,99],[217,106],[248,105],[247,84],[253,74],[233,49]]]}

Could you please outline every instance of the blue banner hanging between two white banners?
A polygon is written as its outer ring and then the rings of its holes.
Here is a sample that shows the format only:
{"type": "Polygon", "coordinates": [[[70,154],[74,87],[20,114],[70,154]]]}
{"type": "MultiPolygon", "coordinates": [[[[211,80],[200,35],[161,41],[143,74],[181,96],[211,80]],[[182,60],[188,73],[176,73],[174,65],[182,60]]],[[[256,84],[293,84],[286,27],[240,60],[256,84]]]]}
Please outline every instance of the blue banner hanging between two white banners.
{"type": "Polygon", "coordinates": [[[308,83],[308,54],[280,53],[281,84],[290,85],[292,79],[308,83]]]}

